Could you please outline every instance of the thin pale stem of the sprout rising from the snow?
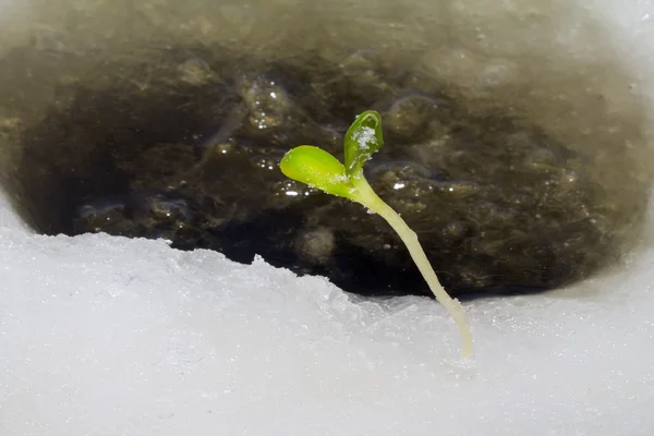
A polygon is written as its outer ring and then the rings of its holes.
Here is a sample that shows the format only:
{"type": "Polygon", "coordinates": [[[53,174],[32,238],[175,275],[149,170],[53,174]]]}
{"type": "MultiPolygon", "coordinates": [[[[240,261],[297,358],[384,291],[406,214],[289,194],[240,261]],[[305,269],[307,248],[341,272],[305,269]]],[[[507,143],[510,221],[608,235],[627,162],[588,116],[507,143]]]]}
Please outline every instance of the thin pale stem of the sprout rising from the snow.
{"type": "Polygon", "coordinates": [[[404,242],[404,245],[407,245],[407,249],[409,249],[409,253],[411,254],[413,262],[429,286],[429,289],[436,296],[436,300],[443,304],[450,316],[455,319],[457,327],[459,327],[462,343],[462,359],[471,359],[472,335],[470,332],[468,322],[465,320],[465,315],[463,314],[463,307],[458,300],[449,296],[447,291],[440,284],[440,281],[438,281],[438,277],[436,276],[436,272],[434,272],[434,268],[432,268],[432,265],[429,264],[429,261],[427,259],[427,256],[425,255],[425,252],[422,249],[415,232],[411,230],[409,226],[407,226],[407,222],[404,222],[404,220],[389,205],[379,198],[379,196],[367,183],[363,174],[358,178],[353,178],[352,182],[360,194],[356,195],[356,201],[386,219],[390,227],[392,227],[401,238],[402,242],[404,242]]]}

